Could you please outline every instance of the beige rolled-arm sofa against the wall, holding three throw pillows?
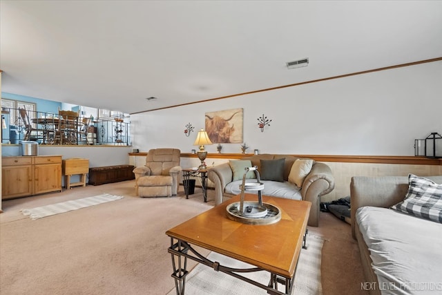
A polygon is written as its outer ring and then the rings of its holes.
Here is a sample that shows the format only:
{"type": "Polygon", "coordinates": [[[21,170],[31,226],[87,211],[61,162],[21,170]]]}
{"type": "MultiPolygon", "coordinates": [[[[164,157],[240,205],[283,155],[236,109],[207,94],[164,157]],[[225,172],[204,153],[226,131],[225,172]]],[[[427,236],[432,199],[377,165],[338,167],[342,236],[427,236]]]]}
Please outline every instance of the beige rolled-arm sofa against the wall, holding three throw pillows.
{"type": "MultiPolygon", "coordinates": [[[[310,173],[305,177],[302,186],[297,187],[295,184],[288,182],[291,166],[294,164],[295,160],[298,159],[293,155],[266,153],[261,155],[244,156],[242,160],[251,160],[252,165],[258,166],[258,171],[260,171],[260,160],[277,160],[280,158],[285,158],[283,172],[284,182],[262,180],[265,184],[265,189],[262,191],[262,195],[311,202],[308,225],[318,227],[320,196],[324,196],[334,189],[332,170],[327,164],[313,161],[310,173]]],[[[229,163],[220,164],[209,169],[207,177],[213,182],[216,204],[220,204],[240,193],[239,184],[241,180],[232,182],[233,172],[229,163]]]]}

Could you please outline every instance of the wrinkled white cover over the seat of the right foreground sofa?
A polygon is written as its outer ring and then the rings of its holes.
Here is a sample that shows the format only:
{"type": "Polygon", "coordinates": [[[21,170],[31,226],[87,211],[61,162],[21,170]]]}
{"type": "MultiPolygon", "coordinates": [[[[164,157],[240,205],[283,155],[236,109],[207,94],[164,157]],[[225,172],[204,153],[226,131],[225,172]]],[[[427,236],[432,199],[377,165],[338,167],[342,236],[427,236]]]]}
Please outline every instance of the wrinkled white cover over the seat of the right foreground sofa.
{"type": "Polygon", "coordinates": [[[392,209],[356,212],[382,294],[442,293],[442,224],[392,209]]]}

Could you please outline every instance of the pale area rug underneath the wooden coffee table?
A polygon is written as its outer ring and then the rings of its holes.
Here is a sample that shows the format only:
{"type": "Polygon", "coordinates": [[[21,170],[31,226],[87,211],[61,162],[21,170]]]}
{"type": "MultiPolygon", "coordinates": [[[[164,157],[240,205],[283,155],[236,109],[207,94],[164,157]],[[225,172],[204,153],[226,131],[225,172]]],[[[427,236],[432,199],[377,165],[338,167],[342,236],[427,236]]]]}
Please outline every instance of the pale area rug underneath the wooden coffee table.
{"type": "MultiPolygon", "coordinates": [[[[323,288],[320,283],[320,260],[323,249],[323,238],[320,236],[307,235],[307,249],[302,249],[298,266],[296,267],[294,288],[291,294],[320,295],[323,288]]],[[[251,265],[242,263],[233,258],[211,252],[207,256],[209,260],[218,261],[220,265],[229,267],[246,268],[251,265]]],[[[253,272],[244,274],[247,278],[256,280],[264,285],[269,283],[269,272],[253,272]]],[[[284,287],[279,286],[279,291],[284,292],[284,287]]],[[[168,295],[176,294],[175,288],[168,295]]],[[[187,276],[185,294],[191,295],[264,295],[265,289],[246,283],[238,278],[222,272],[215,272],[211,267],[198,264],[187,276]]]]}

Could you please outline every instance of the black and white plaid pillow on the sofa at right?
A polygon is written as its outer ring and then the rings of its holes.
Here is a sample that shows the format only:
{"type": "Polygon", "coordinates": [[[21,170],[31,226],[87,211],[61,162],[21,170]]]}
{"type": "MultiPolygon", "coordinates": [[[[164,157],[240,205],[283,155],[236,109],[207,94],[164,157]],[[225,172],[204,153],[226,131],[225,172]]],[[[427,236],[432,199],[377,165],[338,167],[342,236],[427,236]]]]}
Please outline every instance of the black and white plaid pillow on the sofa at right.
{"type": "Polygon", "coordinates": [[[408,183],[405,199],[390,208],[442,223],[442,184],[413,174],[408,183]]]}

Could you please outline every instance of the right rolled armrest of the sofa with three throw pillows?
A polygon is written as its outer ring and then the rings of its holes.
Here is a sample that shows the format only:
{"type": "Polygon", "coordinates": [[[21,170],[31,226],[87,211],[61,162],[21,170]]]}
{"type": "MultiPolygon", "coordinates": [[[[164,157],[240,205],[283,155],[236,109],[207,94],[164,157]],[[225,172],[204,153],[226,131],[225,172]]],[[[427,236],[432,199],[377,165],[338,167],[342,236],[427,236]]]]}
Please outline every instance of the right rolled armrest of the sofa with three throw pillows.
{"type": "Polygon", "coordinates": [[[309,225],[318,227],[319,225],[319,204],[320,196],[333,191],[334,177],[332,169],[327,164],[316,162],[309,175],[302,182],[301,196],[302,200],[311,202],[311,211],[309,216],[309,225]]]}

